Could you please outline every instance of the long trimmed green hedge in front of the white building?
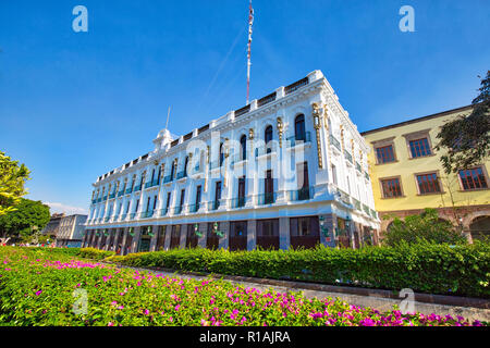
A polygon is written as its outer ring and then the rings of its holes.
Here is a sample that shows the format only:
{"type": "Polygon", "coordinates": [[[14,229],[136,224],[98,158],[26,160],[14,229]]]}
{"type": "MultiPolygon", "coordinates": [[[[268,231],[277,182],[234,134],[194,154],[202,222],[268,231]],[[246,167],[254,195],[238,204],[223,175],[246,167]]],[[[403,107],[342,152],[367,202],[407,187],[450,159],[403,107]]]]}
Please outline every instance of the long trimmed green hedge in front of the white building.
{"type": "Polygon", "coordinates": [[[490,245],[481,243],[457,247],[419,244],[358,250],[323,246],[286,251],[173,249],[113,256],[106,260],[142,268],[490,297],[490,245]]]}

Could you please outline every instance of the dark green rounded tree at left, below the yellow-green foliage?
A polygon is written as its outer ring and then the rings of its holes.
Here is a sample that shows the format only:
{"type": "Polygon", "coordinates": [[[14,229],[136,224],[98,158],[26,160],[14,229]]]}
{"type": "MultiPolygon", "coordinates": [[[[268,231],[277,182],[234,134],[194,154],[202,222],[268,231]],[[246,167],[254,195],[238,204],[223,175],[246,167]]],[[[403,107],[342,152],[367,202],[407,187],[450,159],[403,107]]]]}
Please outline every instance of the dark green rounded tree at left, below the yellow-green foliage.
{"type": "Polygon", "coordinates": [[[41,231],[50,220],[49,207],[40,201],[21,199],[15,211],[0,216],[0,231],[3,235],[26,237],[41,231]]]}

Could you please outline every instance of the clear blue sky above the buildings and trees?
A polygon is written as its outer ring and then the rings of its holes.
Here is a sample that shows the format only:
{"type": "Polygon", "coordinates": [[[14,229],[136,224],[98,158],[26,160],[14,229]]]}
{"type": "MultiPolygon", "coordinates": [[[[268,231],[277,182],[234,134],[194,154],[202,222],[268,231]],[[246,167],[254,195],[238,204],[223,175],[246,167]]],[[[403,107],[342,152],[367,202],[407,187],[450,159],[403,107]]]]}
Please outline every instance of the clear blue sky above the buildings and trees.
{"type": "MultiPolygon", "coordinates": [[[[470,103],[488,0],[254,0],[250,99],[321,70],[359,130],[470,103]],[[402,33],[399,10],[415,10],[402,33]]],[[[245,104],[247,0],[0,1],[0,149],[30,199],[87,210],[97,176],[245,104]],[[72,10],[88,9],[88,33],[72,10]]]]}

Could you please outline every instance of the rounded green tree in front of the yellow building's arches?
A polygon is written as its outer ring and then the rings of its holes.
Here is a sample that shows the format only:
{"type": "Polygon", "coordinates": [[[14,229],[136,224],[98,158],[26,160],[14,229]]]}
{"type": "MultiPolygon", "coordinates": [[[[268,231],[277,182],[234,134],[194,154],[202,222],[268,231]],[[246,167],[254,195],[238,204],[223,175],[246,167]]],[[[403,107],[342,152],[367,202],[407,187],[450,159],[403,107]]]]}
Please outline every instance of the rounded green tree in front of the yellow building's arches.
{"type": "Polygon", "coordinates": [[[426,208],[419,215],[408,215],[404,220],[395,217],[387,231],[383,244],[394,247],[403,241],[416,244],[420,240],[434,244],[466,244],[464,234],[449,221],[441,220],[436,209],[426,208]]]}

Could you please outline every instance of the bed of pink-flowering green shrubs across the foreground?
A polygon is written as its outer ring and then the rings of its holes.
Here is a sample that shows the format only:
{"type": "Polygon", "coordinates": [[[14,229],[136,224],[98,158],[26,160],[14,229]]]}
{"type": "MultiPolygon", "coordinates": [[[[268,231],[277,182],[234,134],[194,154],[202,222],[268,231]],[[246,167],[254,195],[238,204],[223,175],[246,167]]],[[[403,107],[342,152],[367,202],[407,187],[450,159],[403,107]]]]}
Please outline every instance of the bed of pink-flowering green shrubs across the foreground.
{"type": "Polygon", "coordinates": [[[487,325],[461,316],[380,313],[340,299],[310,300],[299,293],[121,270],[49,251],[0,247],[0,324],[487,325]],[[73,311],[75,289],[87,291],[86,313],[73,311]]]}

